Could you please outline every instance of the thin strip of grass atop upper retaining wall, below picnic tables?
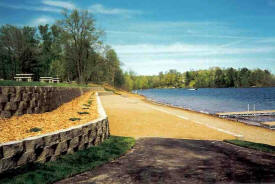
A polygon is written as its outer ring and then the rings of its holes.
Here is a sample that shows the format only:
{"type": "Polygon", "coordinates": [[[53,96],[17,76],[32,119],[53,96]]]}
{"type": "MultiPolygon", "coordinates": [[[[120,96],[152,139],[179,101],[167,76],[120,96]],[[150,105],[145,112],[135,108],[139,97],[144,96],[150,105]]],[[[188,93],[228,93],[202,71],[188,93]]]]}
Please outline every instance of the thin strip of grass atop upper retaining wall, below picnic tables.
{"type": "Polygon", "coordinates": [[[17,82],[13,80],[0,80],[0,86],[53,86],[53,87],[89,87],[85,84],[43,83],[43,82],[17,82]]]}

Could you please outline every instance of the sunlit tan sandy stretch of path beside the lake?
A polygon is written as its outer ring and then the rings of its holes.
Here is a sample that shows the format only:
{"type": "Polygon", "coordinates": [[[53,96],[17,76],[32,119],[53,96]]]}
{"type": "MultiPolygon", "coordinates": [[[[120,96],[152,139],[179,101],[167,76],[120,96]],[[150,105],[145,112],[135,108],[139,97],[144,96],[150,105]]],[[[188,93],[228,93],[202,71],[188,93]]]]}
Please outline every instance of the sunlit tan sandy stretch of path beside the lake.
{"type": "Polygon", "coordinates": [[[145,102],[142,98],[101,96],[112,135],[195,140],[244,139],[275,145],[275,133],[265,128],[145,102]]]}

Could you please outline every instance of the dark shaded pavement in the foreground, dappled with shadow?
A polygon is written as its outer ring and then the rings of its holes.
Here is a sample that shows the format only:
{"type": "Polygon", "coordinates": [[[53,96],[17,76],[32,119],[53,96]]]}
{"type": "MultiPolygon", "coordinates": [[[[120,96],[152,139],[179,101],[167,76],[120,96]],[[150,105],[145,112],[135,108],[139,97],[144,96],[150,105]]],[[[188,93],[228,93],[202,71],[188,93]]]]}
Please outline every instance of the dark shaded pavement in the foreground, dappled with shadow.
{"type": "Polygon", "coordinates": [[[275,182],[275,156],[220,141],[142,138],[120,159],[58,184],[216,182],[275,182]]]}

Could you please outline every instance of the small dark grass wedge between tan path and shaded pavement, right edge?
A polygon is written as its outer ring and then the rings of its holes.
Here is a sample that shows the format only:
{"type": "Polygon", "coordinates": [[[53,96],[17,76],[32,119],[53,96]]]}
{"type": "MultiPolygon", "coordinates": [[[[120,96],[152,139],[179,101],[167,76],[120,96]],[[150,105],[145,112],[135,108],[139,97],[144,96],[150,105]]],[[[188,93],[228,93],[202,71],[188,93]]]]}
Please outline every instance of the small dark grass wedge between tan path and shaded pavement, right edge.
{"type": "Polygon", "coordinates": [[[231,143],[231,144],[245,147],[245,148],[255,149],[258,151],[275,153],[275,146],[271,146],[267,144],[260,144],[260,143],[241,141],[241,140],[225,140],[224,142],[231,143]]]}

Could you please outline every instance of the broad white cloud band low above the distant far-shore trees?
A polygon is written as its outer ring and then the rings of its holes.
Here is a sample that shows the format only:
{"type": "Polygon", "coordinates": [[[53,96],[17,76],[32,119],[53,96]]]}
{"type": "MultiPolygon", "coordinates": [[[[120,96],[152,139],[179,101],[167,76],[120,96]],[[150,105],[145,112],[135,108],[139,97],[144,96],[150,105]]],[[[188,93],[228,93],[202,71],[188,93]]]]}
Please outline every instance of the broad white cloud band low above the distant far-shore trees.
{"type": "Polygon", "coordinates": [[[275,71],[275,46],[246,45],[242,41],[225,44],[135,44],[112,45],[125,69],[134,69],[138,74],[157,74],[160,71],[209,67],[250,67],[261,63],[262,68],[275,71]],[[261,57],[264,56],[264,57],[261,57]],[[267,58],[269,57],[269,58],[267,58]],[[271,68],[270,68],[271,66],[271,68]],[[272,68],[273,67],[273,68],[272,68]]]}

